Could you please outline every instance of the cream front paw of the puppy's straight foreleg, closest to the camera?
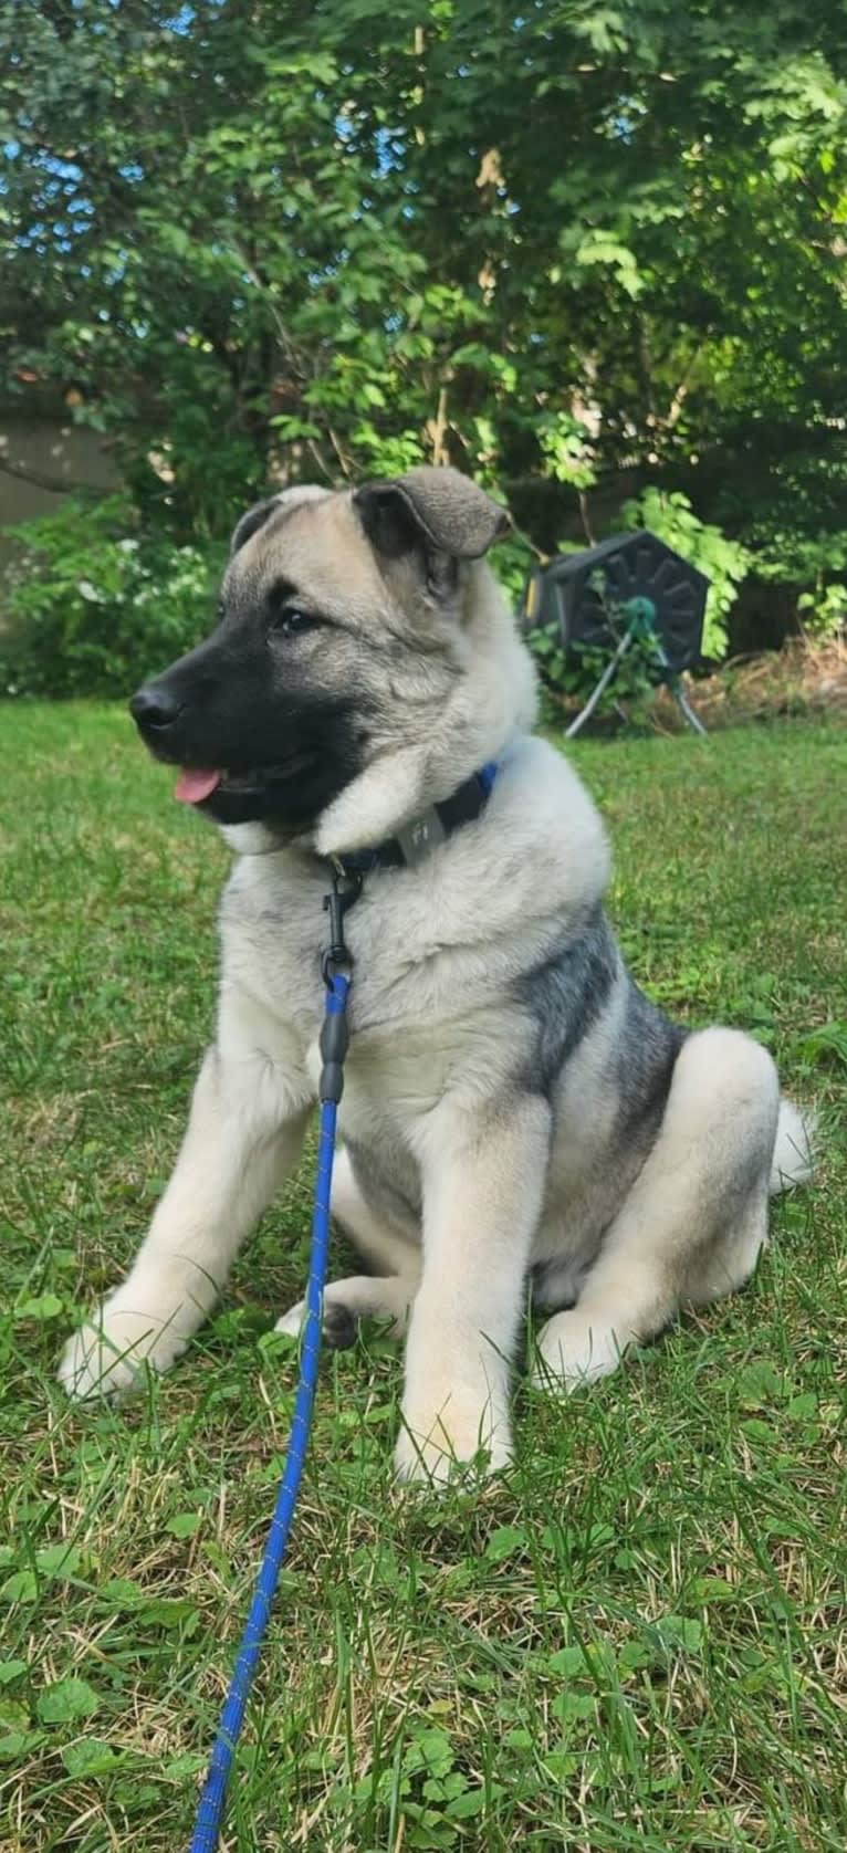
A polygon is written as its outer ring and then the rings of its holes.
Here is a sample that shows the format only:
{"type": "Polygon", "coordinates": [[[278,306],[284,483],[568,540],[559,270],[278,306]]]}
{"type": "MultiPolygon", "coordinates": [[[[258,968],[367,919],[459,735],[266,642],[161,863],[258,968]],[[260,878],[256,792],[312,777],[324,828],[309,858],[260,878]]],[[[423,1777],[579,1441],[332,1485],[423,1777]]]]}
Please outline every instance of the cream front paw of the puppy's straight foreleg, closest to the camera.
{"type": "Polygon", "coordinates": [[[415,1406],[406,1401],[395,1447],[397,1477],[443,1486],[450,1475],[473,1466],[497,1473],[512,1460],[508,1414],[493,1412],[491,1397],[452,1390],[441,1401],[415,1406]]]}

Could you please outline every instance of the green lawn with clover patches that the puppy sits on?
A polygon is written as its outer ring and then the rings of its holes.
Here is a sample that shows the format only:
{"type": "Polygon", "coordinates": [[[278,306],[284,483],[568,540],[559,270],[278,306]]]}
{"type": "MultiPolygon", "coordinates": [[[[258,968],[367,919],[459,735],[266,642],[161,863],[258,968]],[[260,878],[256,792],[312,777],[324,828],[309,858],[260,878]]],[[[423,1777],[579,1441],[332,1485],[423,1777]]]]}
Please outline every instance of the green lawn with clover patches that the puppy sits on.
{"type": "MultiPolygon", "coordinates": [[[[285,1445],[308,1177],[171,1377],[69,1408],[54,1360],[137,1245],[215,990],[215,836],[106,708],[0,713],[2,1853],[187,1844],[285,1445]]],[[[582,745],[638,977],[821,1106],[751,1288],[513,1471],[391,1484],[400,1364],[324,1360],[224,1847],[812,1853],[847,1844],[847,736],[582,745]]],[[[315,921],[321,932],[321,921],[315,921]]],[[[341,1269],[341,1260],[337,1260],[341,1269]]]]}

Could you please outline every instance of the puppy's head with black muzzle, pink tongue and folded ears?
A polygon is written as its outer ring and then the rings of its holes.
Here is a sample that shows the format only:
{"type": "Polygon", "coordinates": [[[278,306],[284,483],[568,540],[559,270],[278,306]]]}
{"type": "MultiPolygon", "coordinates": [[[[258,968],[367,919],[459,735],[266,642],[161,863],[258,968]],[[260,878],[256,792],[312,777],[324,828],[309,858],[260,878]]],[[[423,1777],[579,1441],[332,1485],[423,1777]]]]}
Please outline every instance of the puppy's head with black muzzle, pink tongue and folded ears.
{"type": "Polygon", "coordinates": [[[182,767],[178,795],[271,839],[334,815],[322,851],[447,797],[532,712],[525,650],[480,565],[506,523],[452,469],[252,508],[217,630],[130,702],[156,758],[182,767]]]}

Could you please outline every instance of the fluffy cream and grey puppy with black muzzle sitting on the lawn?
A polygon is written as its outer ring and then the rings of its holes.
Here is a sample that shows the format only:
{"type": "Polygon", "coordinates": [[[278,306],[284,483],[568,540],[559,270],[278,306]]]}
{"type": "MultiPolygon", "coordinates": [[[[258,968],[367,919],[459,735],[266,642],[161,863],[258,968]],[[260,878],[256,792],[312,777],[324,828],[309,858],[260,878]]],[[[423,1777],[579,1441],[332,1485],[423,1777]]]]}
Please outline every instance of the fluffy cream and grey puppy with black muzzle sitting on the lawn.
{"type": "Polygon", "coordinates": [[[348,858],[373,867],[345,919],[332,1210],[367,1267],[326,1288],[324,1325],[406,1338],[400,1479],[508,1462],[528,1280],[534,1379],[571,1390],[740,1288],[769,1193],[808,1177],[767,1051],[686,1032],[626,971],[600,819],[530,734],[532,660],[486,563],[506,524],[447,467],[274,495],[235,528],[213,636],[130,704],[235,865],[215,1040],[137,1260],[65,1351],[78,1397],[174,1362],[297,1166],[348,858]]]}

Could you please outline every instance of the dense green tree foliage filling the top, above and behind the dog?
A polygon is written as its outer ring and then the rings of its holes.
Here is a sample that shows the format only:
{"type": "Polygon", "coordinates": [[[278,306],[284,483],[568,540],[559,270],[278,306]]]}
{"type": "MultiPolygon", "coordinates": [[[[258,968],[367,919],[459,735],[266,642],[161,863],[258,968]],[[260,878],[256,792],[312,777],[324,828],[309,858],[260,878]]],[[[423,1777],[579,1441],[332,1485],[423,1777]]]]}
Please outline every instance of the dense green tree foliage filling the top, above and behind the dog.
{"type": "Polygon", "coordinates": [[[841,0],[0,0],[0,30],[7,397],[52,382],[104,434],[141,537],[215,550],[269,484],[454,461],[545,548],[686,497],[689,548],[719,528],[838,628],[841,0]]]}

